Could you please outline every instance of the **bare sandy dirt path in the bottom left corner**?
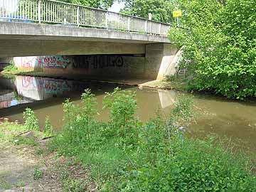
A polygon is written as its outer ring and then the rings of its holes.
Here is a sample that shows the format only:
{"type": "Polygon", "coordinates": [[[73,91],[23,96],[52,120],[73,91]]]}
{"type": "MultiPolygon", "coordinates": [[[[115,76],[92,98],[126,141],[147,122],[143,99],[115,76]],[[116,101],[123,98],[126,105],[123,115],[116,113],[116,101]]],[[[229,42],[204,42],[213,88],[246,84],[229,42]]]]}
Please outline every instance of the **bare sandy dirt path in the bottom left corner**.
{"type": "Polygon", "coordinates": [[[0,191],[62,191],[60,185],[51,176],[50,168],[43,159],[31,153],[31,149],[17,149],[15,146],[4,146],[0,143],[0,191]],[[42,178],[34,179],[39,170],[42,178]]]}

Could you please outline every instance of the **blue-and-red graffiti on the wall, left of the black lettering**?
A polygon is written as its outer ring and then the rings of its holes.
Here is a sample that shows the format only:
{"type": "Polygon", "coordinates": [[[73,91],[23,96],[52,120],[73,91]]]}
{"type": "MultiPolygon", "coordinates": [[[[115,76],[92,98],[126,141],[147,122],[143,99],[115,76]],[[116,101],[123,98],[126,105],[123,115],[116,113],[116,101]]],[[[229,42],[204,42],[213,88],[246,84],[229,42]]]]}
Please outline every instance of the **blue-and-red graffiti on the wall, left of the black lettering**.
{"type": "Polygon", "coordinates": [[[70,64],[70,60],[67,56],[56,55],[56,56],[44,56],[37,57],[36,63],[39,66],[43,66],[43,68],[67,68],[70,64]]]}

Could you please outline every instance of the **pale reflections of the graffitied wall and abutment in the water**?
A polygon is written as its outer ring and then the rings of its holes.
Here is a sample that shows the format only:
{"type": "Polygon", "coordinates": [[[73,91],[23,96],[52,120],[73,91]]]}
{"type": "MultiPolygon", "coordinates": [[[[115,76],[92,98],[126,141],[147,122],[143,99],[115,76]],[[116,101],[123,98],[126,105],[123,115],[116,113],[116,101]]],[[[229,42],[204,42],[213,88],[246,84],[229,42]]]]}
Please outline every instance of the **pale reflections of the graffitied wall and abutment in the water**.
{"type": "MultiPolygon", "coordinates": [[[[117,85],[113,85],[117,86],[117,85]]],[[[47,100],[52,97],[69,97],[72,92],[82,92],[90,87],[90,82],[61,80],[31,76],[14,76],[13,79],[1,78],[0,107],[11,107],[24,103],[47,100]]],[[[176,94],[172,91],[158,90],[161,108],[173,104],[176,94]]]]}

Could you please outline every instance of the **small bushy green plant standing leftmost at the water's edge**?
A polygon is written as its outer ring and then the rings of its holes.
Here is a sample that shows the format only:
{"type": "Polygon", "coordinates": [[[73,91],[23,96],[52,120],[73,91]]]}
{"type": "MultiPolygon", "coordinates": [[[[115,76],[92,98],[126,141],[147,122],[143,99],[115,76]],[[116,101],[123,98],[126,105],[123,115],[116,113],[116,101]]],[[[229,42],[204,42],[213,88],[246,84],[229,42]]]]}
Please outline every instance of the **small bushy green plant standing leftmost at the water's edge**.
{"type": "Polygon", "coordinates": [[[38,118],[33,110],[26,108],[23,112],[23,119],[25,120],[25,127],[27,130],[39,130],[38,118]]]}

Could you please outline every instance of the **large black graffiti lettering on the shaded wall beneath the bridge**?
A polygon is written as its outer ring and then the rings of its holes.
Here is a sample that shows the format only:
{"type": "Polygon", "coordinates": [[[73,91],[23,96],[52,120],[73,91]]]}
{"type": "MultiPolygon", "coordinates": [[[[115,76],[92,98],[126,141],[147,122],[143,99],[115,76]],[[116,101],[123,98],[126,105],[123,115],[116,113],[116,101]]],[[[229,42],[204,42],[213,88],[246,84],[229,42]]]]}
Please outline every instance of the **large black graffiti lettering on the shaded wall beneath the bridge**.
{"type": "Polygon", "coordinates": [[[109,68],[124,66],[124,59],[119,55],[82,55],[75,57],[73,68],[109,68]]]}

